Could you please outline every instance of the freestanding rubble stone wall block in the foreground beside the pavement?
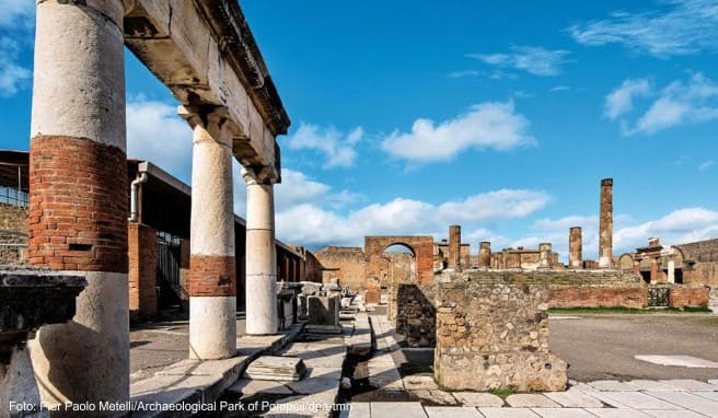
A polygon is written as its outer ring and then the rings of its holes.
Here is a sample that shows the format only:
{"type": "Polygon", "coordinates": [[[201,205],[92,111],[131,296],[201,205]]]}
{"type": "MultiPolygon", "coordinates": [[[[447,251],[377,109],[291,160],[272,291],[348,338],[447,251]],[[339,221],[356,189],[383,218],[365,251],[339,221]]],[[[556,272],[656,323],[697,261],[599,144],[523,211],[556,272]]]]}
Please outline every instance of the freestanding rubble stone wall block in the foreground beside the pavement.
{"type": "Polygon", "coordinates": [[[560,391],[566,362],[548,350],[548,285],[506,272],[439,285],[435,376],[451,391],[560,391]]]}

